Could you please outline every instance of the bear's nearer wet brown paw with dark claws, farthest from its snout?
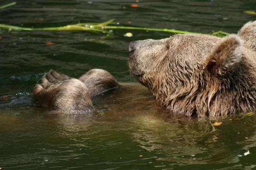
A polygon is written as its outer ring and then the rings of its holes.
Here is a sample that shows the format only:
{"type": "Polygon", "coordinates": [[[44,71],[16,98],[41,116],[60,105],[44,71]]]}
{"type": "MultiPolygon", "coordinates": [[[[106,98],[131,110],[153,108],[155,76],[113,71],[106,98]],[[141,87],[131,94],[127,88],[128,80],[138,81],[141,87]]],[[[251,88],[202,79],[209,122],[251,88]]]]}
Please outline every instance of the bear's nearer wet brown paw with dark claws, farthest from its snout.
{"type": "Polygon", "coordinates": [[[33,89],[38,105],[64,113],[92,113],[89,91],[78,79],[50,70],[33,89]]]}

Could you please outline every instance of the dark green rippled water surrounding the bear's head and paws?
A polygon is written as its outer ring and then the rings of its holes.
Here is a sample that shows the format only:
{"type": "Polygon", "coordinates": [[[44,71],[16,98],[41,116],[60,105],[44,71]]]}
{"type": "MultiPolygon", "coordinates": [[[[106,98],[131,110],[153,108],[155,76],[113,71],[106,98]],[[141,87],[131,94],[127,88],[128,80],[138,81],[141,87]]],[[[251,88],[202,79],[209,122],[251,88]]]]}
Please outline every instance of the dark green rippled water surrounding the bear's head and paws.
{"type": "MultiPolygon", "coordinates": [[[[0,5],[10,3],[1,0],[0,5]]],[[[236,32],[256,15],[254,0],[17,0],[0,9],[0,23],[25,27],[80,22],[236,32]],[[130,5],[137,3],[137,8],[130,5]],[[125,8],[124,8],[125,7],[125,8]],[[44,21],[34,20],[43,18],[44,21]]],[[[62,115],[36,105],[32,88],[49,69],[79,77],[105,69],[119,82],[130,77],[128,42],[170,33],[113,30],[0,31],[0,167],[89,170],[256,169],[256,116],[180,118],[154,102],[142,85],[129,84],[95,101],[93,115],[62,115]],[[124,37],[132,32],[133,37],[124,37]],[[45,42],[55,45],[45,45],[45,42]],[[241,118],[234,120],[234,118],[241,118]],[[229,120],[233,119],[233,120],[229,120]],[[213,127],[214,122],[222,122],[213,127]],[[248,155],[244,155],[247,151],[248,155]]]]}

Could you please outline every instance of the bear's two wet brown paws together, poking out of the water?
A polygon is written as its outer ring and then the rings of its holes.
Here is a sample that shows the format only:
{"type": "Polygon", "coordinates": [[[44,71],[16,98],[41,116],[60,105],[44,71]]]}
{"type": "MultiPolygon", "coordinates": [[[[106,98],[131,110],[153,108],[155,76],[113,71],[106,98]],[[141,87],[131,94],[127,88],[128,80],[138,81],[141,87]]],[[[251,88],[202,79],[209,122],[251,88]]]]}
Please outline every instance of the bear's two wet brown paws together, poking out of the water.
{"type": "Polygon", "coordinates": [[[50,70],[33,89],[38,105],[64,113],[93,113],[91,97],[117,88],[116,79],[102,69],[92,69],[79,79],[50,70]]]}

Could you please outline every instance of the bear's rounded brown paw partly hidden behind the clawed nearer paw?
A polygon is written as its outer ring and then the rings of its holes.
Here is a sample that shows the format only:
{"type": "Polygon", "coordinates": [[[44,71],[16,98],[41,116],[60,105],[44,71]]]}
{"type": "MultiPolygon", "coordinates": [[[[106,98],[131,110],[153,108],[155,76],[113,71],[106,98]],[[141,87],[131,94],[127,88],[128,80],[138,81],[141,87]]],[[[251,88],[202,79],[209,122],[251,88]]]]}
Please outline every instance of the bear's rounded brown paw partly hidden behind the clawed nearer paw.
{"type": "Polygon", "coordinates": [[[90,97],[119,87],[116,79],[108,71],[102,69],[92,69],[79,77],[79,80],[84,82],[88,88],[90,97]]]}

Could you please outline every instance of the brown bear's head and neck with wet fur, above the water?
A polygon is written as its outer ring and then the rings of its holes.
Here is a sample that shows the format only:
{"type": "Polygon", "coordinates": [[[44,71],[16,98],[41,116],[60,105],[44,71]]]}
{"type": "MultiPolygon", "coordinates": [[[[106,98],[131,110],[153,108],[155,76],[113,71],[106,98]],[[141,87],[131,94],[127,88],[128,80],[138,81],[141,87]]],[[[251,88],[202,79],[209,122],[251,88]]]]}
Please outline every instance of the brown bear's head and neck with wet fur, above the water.
{"type": "Polygon", "coordinates": [[[256,109],[256,21],[238,34],[175,34],[129,44],[129,68],[178,114],[227,116],[256,109]]]}

